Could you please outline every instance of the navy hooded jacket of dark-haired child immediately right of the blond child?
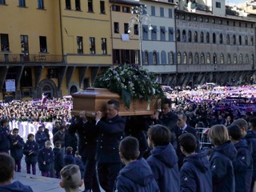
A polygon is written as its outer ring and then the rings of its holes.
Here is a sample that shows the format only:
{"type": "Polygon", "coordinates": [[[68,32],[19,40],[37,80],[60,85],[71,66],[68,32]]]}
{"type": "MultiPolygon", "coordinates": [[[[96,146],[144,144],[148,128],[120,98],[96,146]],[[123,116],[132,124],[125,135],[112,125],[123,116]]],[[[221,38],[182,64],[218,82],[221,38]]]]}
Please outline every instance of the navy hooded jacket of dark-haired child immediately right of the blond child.
{"type": "Polygon", "coordinates": [[[249,192],[253,174],[253,159],[251,156],[251,144],[248,145],[246,139],[234,144],[238,151],[237,157],[233,161],[235,191],[249,192]]]}

